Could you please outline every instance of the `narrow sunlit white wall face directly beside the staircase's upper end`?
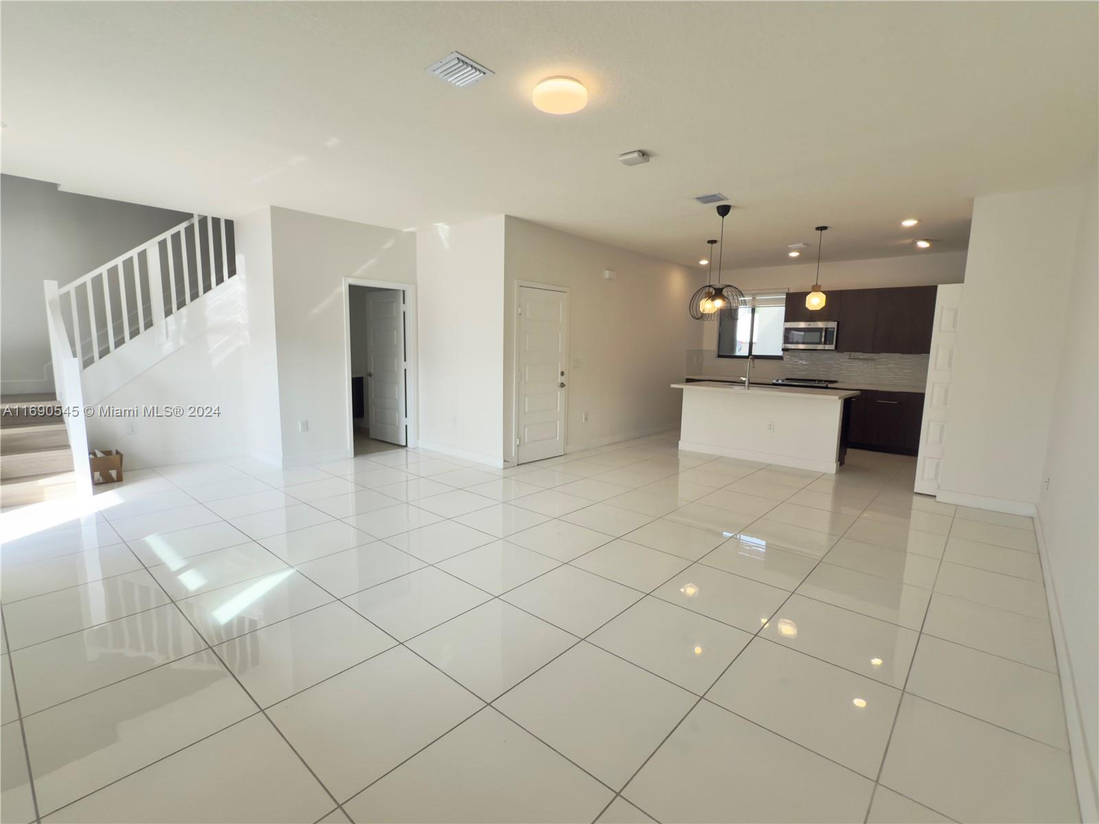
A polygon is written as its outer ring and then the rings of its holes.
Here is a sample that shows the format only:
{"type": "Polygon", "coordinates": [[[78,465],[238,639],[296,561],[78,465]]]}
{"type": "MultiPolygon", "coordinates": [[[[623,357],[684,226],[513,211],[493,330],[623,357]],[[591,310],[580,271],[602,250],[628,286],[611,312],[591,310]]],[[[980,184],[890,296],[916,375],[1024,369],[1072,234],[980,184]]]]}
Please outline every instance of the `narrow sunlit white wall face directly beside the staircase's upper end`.
{"type": "Polygon", "coordinates": [[[241,383],[244,388],[244,444],[255,457],[282,460],[279,416],[278,347],[275,326],[275,269],[270,207],[235,222],[236,271],[245,286],[244,347],[241,383]]]}

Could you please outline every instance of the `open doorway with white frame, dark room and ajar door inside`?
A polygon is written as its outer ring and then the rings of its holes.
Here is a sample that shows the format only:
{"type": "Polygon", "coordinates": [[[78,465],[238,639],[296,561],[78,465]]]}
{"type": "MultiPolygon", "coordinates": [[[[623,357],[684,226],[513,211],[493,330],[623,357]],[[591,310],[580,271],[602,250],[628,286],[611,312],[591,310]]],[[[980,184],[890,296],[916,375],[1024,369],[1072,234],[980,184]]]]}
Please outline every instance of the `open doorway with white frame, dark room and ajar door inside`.
{"type": "Polygon", "coordinates": [[[413,446],[413,287],[344,280],[348,446],[354,455],[413,446]]]}

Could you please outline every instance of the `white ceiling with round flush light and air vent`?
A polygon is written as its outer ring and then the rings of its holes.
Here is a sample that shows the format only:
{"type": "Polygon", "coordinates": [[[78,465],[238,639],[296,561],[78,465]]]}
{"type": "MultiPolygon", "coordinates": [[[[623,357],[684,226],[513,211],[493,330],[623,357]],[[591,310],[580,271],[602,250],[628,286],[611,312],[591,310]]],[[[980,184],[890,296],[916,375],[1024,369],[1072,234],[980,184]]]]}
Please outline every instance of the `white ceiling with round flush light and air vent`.
{"type": "Polygon", "coordinates": [[[229,216],[507,213],[679,261],[718,230],[692,197],[721,191],[726,265],[786,263],[819,223],[832,259],[962,249],[975,196],[1072,182],[1095,151],[1097,8],[8,2],[0,167],[229,216]],[[424,71],[454,49],[496,75],[424,71]],[[557,74],[582,112],[531,104],[557,74]]]}

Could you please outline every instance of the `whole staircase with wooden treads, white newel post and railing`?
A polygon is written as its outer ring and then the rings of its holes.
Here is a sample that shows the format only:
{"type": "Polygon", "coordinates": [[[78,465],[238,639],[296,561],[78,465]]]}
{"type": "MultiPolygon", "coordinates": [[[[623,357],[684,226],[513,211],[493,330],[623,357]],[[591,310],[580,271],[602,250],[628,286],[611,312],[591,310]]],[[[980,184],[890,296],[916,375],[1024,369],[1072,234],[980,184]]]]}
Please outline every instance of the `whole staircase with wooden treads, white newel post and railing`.
{"type": "Polygon", "coordinates": [[[85,407],[238,311],[222,300],[238,291],[233,241],[230,221],[196,214],[63,287],[45,281],[56,394],[0,399],[0,506],[91,493],[85,407]]]}

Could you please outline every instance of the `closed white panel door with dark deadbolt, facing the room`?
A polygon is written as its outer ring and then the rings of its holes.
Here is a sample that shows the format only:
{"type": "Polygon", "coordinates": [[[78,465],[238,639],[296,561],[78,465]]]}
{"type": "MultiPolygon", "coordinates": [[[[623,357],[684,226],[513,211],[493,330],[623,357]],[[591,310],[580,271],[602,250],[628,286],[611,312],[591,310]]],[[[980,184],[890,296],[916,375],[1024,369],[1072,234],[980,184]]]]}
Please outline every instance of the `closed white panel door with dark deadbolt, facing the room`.
{"type": "Polygon", "coordinates": [[[519,287],[515,460],[565,454],[568,293],[519,287]]]}

